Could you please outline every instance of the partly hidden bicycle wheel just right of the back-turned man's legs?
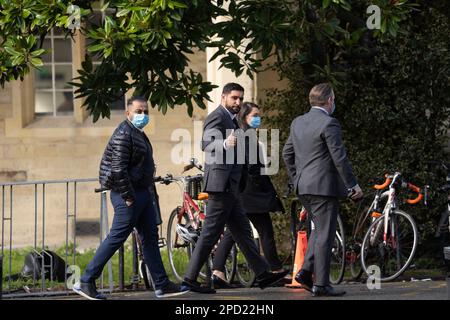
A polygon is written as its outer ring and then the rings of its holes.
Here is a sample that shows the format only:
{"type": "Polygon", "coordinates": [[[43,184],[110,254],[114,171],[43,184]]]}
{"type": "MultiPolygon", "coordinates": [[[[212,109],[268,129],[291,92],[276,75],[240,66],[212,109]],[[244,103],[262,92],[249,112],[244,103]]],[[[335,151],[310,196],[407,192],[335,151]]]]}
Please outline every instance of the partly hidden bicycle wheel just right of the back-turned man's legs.
{"type": "Polygon", "coordinates": [[[336,235],[331,248],[330,282],[339,284],[345,271],[345,233],[341,216],[337,217],[336,235]]]}

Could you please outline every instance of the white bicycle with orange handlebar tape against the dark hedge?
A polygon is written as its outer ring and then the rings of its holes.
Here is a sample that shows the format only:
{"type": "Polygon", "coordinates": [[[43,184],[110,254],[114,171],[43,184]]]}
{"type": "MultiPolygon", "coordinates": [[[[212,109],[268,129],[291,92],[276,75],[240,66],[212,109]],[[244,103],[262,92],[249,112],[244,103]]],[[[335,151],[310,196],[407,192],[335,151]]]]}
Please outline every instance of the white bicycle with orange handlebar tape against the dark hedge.
{"type": "Polygon", "coordinates": [[[397,193],[400,188],[417,193],[415,199],[406,200],[409,204],[423,199],[421,189],[403,180],[399,172],[386,175],[385,183],[377,187],[385,185],[389,185],[387,202],[382,214],[370,225],[361,245],[364,272],[383,282],[400,276],[410,265],[417,249],[416,223],[408,213],[398,209],[397,193]],[[373,272],[374,266],[379,269],[379,274],[373,272]]]}

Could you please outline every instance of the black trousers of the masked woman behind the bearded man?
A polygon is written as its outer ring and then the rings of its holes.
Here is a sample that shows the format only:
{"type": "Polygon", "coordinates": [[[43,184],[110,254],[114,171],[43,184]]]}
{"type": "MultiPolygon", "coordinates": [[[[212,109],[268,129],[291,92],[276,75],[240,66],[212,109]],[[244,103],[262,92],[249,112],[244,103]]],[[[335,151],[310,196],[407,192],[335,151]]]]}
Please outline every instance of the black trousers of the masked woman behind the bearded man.
{"type": "MultiPolygon", "coordinates": [[[[270,269],[272,271],[281,269],[283,265],[278,258],[270,214],[268,212],[247,213],[247,217],[253,223],[256,231],[258,231],[264,257],[269,263],[270,269]]],[[[234,243],[233,236],[227,229],[223,235],[223,238],[220,240],[219,245],[217,246],[214,255],[213,270],[225,272],[225,263],[234,243]]]]}

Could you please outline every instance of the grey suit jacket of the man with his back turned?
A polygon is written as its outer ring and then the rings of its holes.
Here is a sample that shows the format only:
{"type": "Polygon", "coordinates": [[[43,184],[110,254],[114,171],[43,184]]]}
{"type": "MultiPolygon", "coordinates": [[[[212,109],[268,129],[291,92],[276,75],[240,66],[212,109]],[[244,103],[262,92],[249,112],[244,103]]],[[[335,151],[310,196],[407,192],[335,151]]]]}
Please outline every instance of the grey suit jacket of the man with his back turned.
{"type": "Polygon", "coordinates": [[[292,121],[283,159],[299,195],[345,198],[347,189],[357,184],[339,121],[320,109],[292,121]]]}

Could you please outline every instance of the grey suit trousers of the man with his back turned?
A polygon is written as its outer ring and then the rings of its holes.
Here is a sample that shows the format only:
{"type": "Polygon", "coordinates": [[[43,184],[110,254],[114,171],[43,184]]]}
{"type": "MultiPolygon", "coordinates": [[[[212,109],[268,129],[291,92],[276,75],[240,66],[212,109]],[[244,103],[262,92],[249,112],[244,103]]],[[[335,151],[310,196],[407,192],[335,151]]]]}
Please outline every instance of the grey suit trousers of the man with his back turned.
{"type": "Polygon", "coordinates": [[[314,273],[315,285],[326,286],[330,284],[331,248],[336,234],[339,202],[335,197],[315,195],[300,195],[299,199],[314,223],[302,269],[314,273]]]}

